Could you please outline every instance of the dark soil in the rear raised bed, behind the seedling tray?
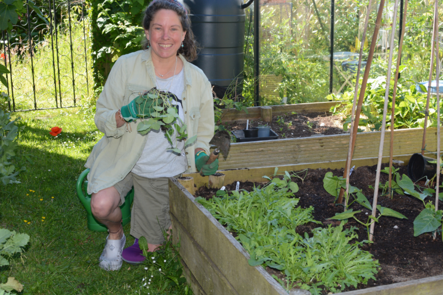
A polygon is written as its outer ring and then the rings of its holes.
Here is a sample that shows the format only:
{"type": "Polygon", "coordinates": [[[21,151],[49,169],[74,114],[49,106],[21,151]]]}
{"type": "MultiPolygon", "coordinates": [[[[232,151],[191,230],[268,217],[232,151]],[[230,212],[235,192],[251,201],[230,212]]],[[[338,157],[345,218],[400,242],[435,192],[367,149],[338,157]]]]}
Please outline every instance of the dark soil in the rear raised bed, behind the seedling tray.
{"type": "MultiPolygon", "coordinates": [[[[223,125],[229,131],[246,129],[246,121],[223,122],[223,125]]],[[[249,127],[261,125],[266,123],[260,120],[249,121],[249,127]]],[[[343,131],[340,116],[330,116],[324,112],[274,116],[268,126],[278,134],[279,139],[347,133],[343,131]]]]}

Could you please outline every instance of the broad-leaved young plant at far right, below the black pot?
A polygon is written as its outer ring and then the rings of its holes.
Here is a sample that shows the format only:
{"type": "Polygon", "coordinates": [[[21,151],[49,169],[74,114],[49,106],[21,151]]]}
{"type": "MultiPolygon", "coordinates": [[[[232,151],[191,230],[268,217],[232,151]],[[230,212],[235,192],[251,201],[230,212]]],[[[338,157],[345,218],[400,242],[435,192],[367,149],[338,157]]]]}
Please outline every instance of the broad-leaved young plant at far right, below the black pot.
{"type": "Polygon", "coordinates": [[[435,206],[431,201],[425,202],[427,197],[435,194],[435,190],[432,188],[427,188],[423,192],[417,192],[415,190],[415,185],[411,178],[406,175],[400,179],[400,175],[397,175],[398,185],[405,191],[405,194],[411,195],[423,202],[424,209],[418,214],[414,220],[414,236],[420,236],[424,233],[430,233],[436,231],[440,226],[442,226],[442,210],[435,210],[435,206]]]}

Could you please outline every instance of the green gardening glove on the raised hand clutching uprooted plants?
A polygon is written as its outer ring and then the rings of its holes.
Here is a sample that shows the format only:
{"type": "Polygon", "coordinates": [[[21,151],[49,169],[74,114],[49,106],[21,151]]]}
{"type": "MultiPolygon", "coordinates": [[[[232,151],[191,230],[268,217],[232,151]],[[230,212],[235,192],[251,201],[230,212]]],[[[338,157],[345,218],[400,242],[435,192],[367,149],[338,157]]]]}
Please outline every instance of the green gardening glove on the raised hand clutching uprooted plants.
{"type": "MultiPolygon", "coordinates": [[[[153,89],[151,89],[153,90],[153,89]]],[[[122,117],[130,122],[137,118],[151,118],[151,113],[156,112],[154,107],[163,106],[163,100],[158,97],[158,91],[150,93],[151,90],[143,95],[135,97],[130,103],[121,108],[122,117]],[[157,99],[154,99],[157,98],[157,99]]],[[[164,93],[164,92],[163,92],[164,93]]],[[[166,93],[164,93],[166,94],[166,93]]],[[[172,94],[172,93],[171,93],[172,94]]]]}

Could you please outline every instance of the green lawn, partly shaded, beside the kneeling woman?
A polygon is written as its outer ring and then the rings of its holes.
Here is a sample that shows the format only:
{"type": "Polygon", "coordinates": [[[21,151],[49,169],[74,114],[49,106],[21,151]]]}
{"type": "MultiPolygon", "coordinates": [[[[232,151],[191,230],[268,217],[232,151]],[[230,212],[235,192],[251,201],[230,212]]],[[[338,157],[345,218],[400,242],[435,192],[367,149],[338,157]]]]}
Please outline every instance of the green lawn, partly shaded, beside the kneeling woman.
{"type": "MultiPolygon", "coordinates": [[[[175,283],[166,277],[165,264],[173,258],[170,249],[164,257],[153,255],[157,265],[153,261],[139,266],[124,263],[119,271],[98,267],[106,233],[87,229],[86,211],[75,189],[89,153],[102,137],[91,108],[15,113],[12,117],[21,117],[25,129],[19,144],[33,164],[27,163],[27,170],[18,176],[21,183],[0,186],[0,228],[26,233],[31,239],[10,266],[0,267],[0,283],[13,276],[24,284],[20,294],[34,295],[187,294],[187,285],[171,287],[175,283]],[[49,134],[54,126],[63,128],[56,138],[49,134]],[[141,288],[143,278],[152,281],[141,288]]],[[[134,241],[129,228],[129,224],[124,227],[127,246],[134,241]]]]}

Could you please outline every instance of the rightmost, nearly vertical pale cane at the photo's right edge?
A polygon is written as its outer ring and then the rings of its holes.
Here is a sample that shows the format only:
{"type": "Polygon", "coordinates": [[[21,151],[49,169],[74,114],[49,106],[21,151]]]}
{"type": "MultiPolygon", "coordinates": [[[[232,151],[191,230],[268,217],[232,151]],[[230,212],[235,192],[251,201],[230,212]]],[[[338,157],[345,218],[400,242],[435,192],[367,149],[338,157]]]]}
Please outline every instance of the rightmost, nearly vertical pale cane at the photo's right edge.
{"type": "MultiPolygon", "coordinates": [[[[434,40],[435,40],[435,54],[437,56],[437,62],[435,65],[436,70],[436,91],[437,91],[437,187],[435,188],[435,211],[439,209],[439,186],[440,186],[440,89],[439,89],[439,80],[440,80],[440,65],[439,65],[439,10],[438,10],[439,0],[435,0],[435,15],[434,15],[434,40]]],[[[430,85],[429,85],[430,86],[430,85]]],[[[437,237],[437,233],[434,233],[434,239],[437,237]]]]}

